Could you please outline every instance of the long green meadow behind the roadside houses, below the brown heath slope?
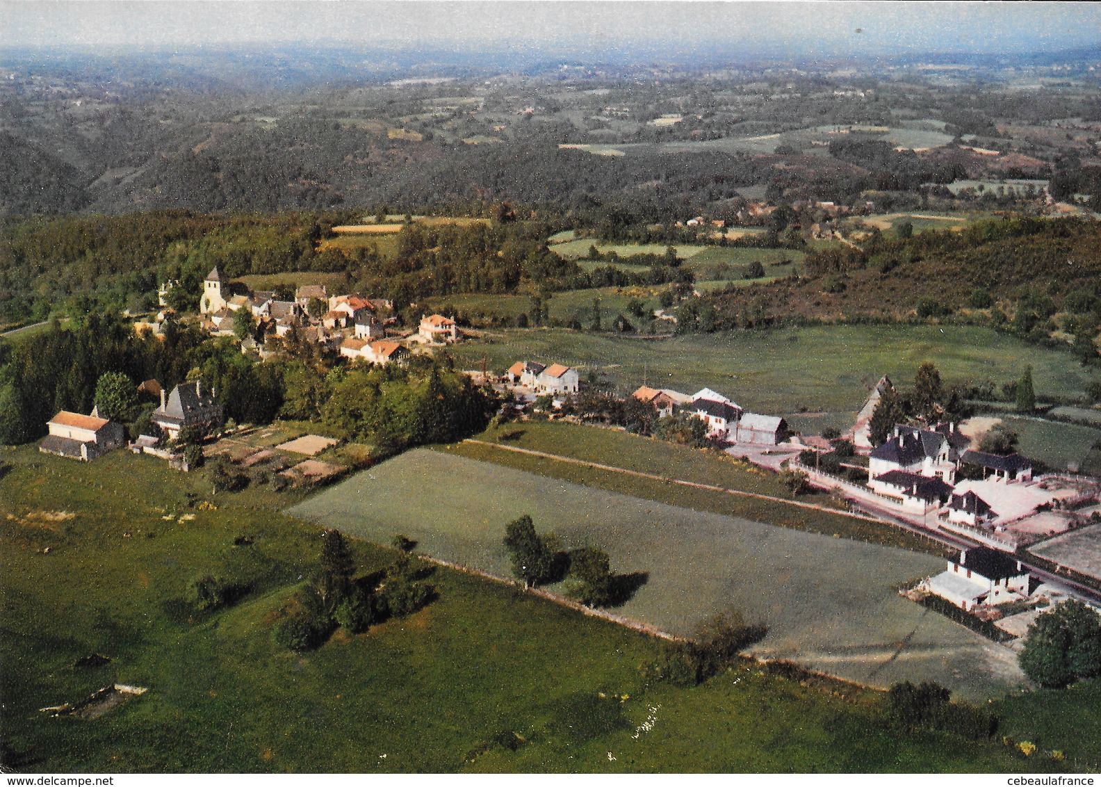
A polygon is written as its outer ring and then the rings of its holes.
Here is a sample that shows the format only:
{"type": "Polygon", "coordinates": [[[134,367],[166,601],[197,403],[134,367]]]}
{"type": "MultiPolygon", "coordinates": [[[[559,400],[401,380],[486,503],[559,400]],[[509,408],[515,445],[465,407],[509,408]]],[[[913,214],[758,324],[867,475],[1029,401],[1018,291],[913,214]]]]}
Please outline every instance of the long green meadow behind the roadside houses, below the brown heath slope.
{"type": "MultiPolygon", "coordinates": [[[[557,296],[555,296],[557,297],[557,296]]],[[[643,382],[686,393],[709,386],[761,413],[859,409],[883,374],[908,386],[923,361],[946,382],[1015,380],[1033,367],[1037,395],[1082,395],[1088,372],[1069,352],[970,326],[815,326],[731,331],[659,341],[569,330],[499,331],[462,342],[468,363],[482,356],[503,371],[520,359],[599,368],[624,390],[643,382]]]]}

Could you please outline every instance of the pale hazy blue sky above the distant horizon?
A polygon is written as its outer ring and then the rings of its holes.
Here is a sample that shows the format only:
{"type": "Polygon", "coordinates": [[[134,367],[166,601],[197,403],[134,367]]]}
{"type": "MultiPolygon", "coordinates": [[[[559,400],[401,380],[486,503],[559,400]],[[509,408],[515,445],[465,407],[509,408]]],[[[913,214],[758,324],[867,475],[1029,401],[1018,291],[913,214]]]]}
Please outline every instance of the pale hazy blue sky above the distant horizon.
{"type": "Polygon", "coordinates": [[[1101,3],[0,0],[0,47],[264,43],[858,56],[1101,51],[1101,3]]]}

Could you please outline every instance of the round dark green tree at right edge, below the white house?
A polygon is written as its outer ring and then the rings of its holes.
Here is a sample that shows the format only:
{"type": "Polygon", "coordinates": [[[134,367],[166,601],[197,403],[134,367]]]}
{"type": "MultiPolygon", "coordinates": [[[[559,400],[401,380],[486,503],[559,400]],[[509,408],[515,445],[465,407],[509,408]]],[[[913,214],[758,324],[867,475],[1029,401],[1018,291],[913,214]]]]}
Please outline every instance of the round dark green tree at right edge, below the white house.
{"type": "Polygon", "coordinates": [[[1101,675],[1101,616],[1077,600],[1058,604],[1028,626],[1017,660],[1040,686],[1101,675]]]}

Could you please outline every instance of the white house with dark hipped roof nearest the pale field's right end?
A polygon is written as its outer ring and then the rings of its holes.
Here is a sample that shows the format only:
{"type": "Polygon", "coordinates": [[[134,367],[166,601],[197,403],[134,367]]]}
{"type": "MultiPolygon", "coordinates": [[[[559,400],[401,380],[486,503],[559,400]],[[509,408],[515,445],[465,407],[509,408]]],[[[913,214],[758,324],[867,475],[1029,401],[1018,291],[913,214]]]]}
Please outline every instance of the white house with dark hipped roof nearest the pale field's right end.
{"type": "Polygon", "coordinates": [[[963,610],[1021,601],[1028,571],[1016,558],[989,547],[971,547],[948,561],[948,570],[925,580],[924,589],[963,610]]]}

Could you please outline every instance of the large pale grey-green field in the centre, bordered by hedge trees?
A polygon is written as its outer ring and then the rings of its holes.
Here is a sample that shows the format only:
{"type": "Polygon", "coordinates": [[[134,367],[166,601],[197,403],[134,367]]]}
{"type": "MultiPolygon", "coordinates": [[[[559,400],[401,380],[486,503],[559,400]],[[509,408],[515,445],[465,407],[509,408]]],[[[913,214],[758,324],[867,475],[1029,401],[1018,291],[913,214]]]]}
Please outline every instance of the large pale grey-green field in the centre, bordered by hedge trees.
{"type": "MultiPolygon", "coordinates": [[[[415,450],[363,471],[290,514],[509,576],[505,524],[530,513],[569,546],[600,545],[617,571],[648,581],[617,612],[688,634],[727,606],[768,626],[765,658],[876,686],[936,680],[989,697],[1023,682],[1014,655],[913,604],[891,586],[942,562],[902,549],[664,505],[446,453],[415,450]]],[[[556,589],[556,588],[552,588],[556,589]]]]}

